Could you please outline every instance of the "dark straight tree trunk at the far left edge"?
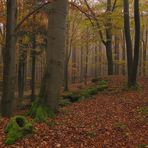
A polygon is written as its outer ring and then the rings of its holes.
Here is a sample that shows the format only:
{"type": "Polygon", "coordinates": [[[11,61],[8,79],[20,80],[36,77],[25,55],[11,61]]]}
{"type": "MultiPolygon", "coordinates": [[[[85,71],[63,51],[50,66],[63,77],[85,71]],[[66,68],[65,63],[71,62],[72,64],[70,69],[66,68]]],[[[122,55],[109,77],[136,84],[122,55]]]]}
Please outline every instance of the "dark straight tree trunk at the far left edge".
{"type": "Polygon", "coordinates": [[[6,44],[3,55],[3,95],[1,102],[2,116],[10,117],[14,112],[15,99],[15,47],[16,47],[16,0],[7,1],[6,44]]]}

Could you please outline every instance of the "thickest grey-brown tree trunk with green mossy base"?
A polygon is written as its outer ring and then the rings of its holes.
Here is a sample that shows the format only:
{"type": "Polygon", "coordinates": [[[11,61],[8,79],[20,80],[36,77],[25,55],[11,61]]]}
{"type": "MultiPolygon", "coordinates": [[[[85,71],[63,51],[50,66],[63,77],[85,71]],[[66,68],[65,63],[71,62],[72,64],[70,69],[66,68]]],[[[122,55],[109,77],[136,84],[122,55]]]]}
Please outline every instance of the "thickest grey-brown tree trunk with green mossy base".
{"type": "MultiPolygon", "coordinates": [[[[67,3],[67,0],[54,1],[48,12],[46,65],[37,105],[32,106],[32,109],[37,108],[33,109],[33,112],[37,111],[39,114],[42,109],[45,109],[43,111],[45,113],[48,109],[56,111],[58,107],[59,93],[63,84],[67,3]]],[[[31,111],[31,114],[34,113],[31,111]]]]}

